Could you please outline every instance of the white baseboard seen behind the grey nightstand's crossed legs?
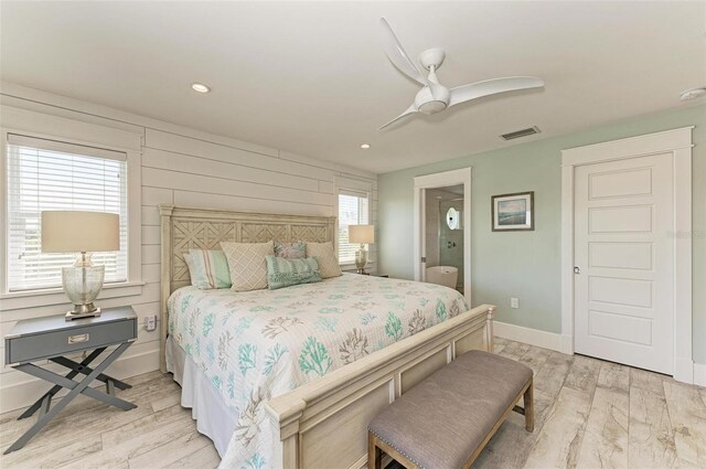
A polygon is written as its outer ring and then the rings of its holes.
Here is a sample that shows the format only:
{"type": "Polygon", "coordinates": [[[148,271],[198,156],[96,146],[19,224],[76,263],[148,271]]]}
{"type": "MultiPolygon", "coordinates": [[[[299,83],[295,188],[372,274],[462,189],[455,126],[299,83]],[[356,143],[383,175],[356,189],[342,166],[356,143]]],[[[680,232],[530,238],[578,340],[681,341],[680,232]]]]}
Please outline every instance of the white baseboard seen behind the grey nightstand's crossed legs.
{"type": "MultiPolygon", "coordinates": [[[[159,370],[159,349],[149,350],[143,353],[126,358],[119,358],[115,363],[108,366],[108,371],[106,373],[110,376],[117,377],[118,380],[125,380],[154,370],[159,370]]],[[[13,371],[13,373],[20,372],[13,371]]],[[[33,379],[29,375],[26,375],[26,381],[0,388],[0,414],[15,411],[18,408],[29,407],[51,388],[51,384],[45,381],[33,379]]],[[[76,380],[78,380],[78,377],[76,380]]],[[[100,382],[93,383],[93,387],[98,385],[103,384],[100,382]]],[[[56,397],[61,397],[66,393],[66,390],[62,390],[56,394],[56,397]]]]}

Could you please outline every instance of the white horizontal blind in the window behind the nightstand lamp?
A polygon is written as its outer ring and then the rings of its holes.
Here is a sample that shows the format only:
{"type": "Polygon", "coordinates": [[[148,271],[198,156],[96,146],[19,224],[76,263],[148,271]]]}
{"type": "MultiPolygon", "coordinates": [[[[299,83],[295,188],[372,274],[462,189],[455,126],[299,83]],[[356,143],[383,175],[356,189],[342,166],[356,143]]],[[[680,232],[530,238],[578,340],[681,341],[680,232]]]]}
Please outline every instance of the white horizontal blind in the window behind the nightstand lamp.
{"type": "MultiPolygon", "coordinates": [[[[20,135],[8,135],[9,291],[60,287],[74,254],[42,254],[41,213],[49,210],[111,212],[120,216],[120,251],[95,253],[105,283],[127,280],[127,154],[20,135]]],[[[86,226],[90,230],[90,226],[86,226]]]]}

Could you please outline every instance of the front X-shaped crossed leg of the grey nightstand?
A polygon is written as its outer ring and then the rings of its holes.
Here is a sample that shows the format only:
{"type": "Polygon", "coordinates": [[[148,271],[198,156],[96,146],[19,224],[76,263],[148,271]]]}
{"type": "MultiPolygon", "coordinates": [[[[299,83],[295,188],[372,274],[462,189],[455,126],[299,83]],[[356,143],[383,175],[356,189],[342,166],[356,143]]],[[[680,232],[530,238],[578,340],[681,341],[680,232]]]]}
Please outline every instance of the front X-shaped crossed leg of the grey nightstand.
{"type": "MultiPolygon", "coordinates": [[[[129,411],[131,408],[137,407],[135,404],[131,404],[127,401],[120,399],[113,395],[101,393],[100,391],[94,390],[93,387],[88,387],[88,384],[90,384],[90,382],[96,380],[98,375],[100,375],[104,370],[106,370],[118,356],[120,356],[128,347],[130,347],[130,342],[125,342],[120,344],[108,356],[106,356],[106,359],[103,362],[100,362],[98,366],[96,366],[92,372],[89,372],[88,375],[84,377],[81,382],[69,380],[66,376],[62,376],[61,374],[56,374],[54,372],[41,369],[31,363],[24,363],[15,366],[17,370],[23,371],[25,373],[29,373],[42,380],[49,381],[51,383],[55,383],[61,387],[67,387],[71,391],[54,407],[49,409],[49,412],[42,413],[42,415],[40,415],[40,417],[34,423],[34,425],[32,425],[32,427],[30,427],[30,429],[26,430],[24,435],[22,435],[17,441],[14,441],[12,446],[10,446],[10,448],[8,448],[4,451],[4,454],[7,455],[8,452],[12,452],[22,448],[34,435],[36,435],[42,429],[42,427],[44,427],[44,425],[49,423],[49,420],[54,418],[54,416],[58,414],[64,407],[66,407],[66,405],[68,405],[68,403],[72,402],[78,394],[83,393],[89,397],[101,401],[106,404],[114,405],[124,411],[129,411]]],[[[47,397],[47,395],[44,395],[44,397],[42,397],[42,399],[39,401],[40,406],[42,405],[42,402],[44,401],[45,397],[47,397]]]]}

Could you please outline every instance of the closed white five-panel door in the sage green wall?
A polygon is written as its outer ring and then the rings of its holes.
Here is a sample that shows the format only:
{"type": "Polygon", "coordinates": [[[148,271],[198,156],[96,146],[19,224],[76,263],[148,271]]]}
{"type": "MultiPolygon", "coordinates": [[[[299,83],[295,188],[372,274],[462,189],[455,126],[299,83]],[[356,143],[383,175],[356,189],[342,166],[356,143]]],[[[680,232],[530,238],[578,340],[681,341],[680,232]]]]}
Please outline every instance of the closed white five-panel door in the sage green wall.
{"type": "Polygon", "coordinates": [[[576,352],[672,374],[672,153],[575,171],[576,352]]]}

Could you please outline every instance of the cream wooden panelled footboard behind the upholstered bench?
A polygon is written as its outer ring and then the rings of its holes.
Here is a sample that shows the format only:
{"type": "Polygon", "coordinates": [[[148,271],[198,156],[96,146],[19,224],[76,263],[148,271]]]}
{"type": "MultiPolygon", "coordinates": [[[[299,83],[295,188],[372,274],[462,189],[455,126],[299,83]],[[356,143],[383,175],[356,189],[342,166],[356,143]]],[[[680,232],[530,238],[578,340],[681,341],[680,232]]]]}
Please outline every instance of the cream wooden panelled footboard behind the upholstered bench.
{"type": "Polygon", "coordinates": [[[493,351],[492,316],[483,305],[266,404],[277,468],[362,468],[367,423],[415,384],[469,350],[493,351]]]}

